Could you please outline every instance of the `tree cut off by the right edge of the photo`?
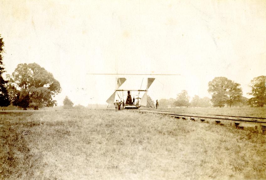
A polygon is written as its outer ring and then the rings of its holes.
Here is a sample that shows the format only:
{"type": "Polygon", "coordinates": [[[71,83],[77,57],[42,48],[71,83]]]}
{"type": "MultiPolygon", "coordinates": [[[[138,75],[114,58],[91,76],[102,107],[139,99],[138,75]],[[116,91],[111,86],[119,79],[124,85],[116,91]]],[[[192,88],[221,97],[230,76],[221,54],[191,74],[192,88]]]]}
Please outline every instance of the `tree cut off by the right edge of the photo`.
{"type": "Polygon", "coordinates": [[[250,87],[251,93],[248,93],[253,96],[249,99],[249,103],[253,106],[263,107],[266,104],[266,76],[258,76],[251,80],[250,87]]]}

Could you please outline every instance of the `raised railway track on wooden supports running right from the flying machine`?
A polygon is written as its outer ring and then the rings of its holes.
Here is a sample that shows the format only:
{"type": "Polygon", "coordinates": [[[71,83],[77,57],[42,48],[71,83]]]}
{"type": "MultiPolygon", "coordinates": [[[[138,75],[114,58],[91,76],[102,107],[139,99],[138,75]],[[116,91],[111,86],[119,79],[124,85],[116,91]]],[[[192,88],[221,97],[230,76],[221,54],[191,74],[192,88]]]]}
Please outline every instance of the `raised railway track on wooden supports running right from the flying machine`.
{"type": "Polygon", "coordinates": [[[234,126],[239,129],[253,127],[262,134],[266,134],[266,118],[257,117],[244,117],[244,116],[224,116],[213,114],[197,114],[197,113],[173,113],[171,111],[162,110],[131,110],[132,112],[139,113],[156,113],[162,115],[168,115],[173,118],[200,121],[200,122],[212,122],[221,125],[234,126]]]}

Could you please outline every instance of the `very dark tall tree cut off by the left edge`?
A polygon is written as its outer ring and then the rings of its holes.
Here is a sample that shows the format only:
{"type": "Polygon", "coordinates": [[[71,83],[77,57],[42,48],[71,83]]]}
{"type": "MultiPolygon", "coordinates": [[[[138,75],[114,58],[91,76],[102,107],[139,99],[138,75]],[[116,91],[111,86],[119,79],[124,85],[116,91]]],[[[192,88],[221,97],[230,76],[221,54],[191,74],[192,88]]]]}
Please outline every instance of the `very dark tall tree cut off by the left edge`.
{"type": "Polygon", "coordinates": [[[5,72],[5,68],[3,65],[3,57],[2,53],[4,51],[4,42],[3,38],[1,38],[0,34],[0,106],[8,106],[10,104],[9,98],[8,98],[8,91],[7,91],[7,81],[5,81],[2,77],[3,73],[5,72]]]}

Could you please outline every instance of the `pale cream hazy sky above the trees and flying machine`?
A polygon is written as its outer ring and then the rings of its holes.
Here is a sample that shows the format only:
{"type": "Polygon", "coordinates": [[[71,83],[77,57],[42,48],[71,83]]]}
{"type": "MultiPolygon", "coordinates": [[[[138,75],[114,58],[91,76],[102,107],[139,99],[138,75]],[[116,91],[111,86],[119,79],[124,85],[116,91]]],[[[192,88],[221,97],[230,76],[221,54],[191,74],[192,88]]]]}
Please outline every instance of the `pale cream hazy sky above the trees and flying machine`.
{"type": "MultiPolygon", "coordinates": [[[[208,96],[208,82],[224,76],[243,89],[266,75],[266,1],[0,1],[3,63],[38,63],[60,82],[56,96],[73,103],[105,103],[116,76],[87,73],[175,73],[155,76],[156,100],[208,96]]],[[[123,76],[119,76],[123,77],[123,76]]],[[[124,76],[141,86],[143,76],[124,76]]]]}

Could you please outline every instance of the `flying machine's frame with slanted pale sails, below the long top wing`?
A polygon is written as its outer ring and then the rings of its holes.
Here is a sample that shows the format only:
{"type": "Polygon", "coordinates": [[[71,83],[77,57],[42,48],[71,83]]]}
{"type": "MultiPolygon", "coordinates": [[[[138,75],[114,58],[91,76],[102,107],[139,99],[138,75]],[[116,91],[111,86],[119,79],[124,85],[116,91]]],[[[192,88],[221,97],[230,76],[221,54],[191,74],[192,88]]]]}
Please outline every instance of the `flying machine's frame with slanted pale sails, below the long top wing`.
{"type": "Polygon", "coordinates": [[[125,83],[126,78],[116,78],[116,87],[114,93],[106,100],[106,103],[109,104],[108,108],[114,107],[114,102],[116,100],[118,100],[121,105],[124,104],[125,109],[137,109],[140,107],[154,108],[152,100],[147,95],[148,89],[154,80],[155,78],[147,78],[145,89],[120,89],[121,85],[125,83]]]}

